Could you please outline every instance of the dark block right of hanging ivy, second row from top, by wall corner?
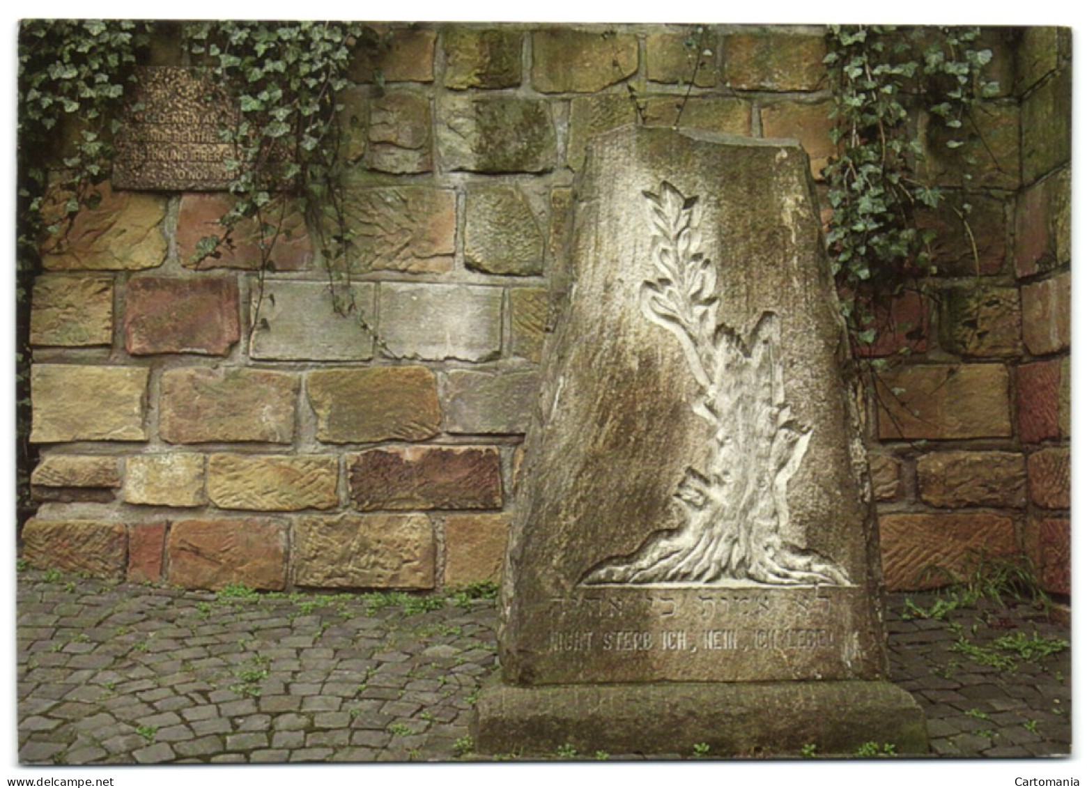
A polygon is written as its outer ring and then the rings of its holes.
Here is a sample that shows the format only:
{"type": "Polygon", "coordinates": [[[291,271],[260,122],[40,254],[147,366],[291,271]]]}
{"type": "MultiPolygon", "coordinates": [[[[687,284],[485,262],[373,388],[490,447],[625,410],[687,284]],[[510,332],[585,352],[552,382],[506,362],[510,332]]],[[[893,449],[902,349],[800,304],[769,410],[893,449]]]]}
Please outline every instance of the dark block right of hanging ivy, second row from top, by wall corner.
{"type": "Polygon", "coordinates": [[[989,101],[974,110],[977,133],[949,129],[940,117],[922,114],[920,137],[925,149],[922,175],[940,186],[1017,189],[1020,186],[1020,108],[1012,101],[989,101]],[[964,145],[949,148],[948,142],[964,145]]]}

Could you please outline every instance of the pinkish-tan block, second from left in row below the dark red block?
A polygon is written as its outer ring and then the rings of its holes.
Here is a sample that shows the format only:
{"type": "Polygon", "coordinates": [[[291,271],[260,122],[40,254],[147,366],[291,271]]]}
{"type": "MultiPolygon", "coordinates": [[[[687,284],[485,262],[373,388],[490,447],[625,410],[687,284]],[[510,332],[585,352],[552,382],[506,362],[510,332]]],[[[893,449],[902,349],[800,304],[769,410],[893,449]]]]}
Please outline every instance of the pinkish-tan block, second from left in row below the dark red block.
{"type": "Polygon", "coordinates": [[[171,443],[259,441],[295,436],[298,377],[241,367],[182,367],[162,374],[159,435],[171,443]]]}

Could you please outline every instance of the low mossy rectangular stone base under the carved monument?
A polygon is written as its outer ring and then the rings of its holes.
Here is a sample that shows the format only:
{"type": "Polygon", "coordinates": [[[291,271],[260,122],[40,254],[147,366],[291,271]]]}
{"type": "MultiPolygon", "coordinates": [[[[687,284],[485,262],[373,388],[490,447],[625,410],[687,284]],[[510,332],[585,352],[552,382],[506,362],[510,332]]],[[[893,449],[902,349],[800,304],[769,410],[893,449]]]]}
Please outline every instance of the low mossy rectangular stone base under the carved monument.
{"type": "Polygon", "coordinates": [[[554,755],[573,746],[609,754],[710,758],[851,755],[866,741],[925,754],[925,714],[889,681],[612,684],[514,687],[497,680],[476,703],[473,737],[485,754],[554,755]]]}

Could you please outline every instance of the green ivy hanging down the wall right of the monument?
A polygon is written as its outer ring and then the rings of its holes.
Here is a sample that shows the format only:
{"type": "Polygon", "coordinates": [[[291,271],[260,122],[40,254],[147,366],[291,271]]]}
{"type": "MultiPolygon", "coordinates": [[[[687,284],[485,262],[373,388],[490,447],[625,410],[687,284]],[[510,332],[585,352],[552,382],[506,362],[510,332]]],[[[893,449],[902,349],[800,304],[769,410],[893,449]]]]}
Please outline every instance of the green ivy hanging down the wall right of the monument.
{"type": "Polygon", "coordinates": [[[836,25],[827,32],[830,138],[838,152],[824,171],[832,209],[826,240],[842,312],[861,354],[879,330],[910,328],[889,324],[889,304],[936,273],[935,233],[919,228],[919,213],[949,204],[972,237],[971,175],[962,175],[955,192],[919,175],[925,151],[916,118],[919,112],[938,118],[950,150],[978,136],[972,113],[998,90],[983,74],[992,53],[978,46],[979,37],[976,27],[836,25]],[[950,202],[952,193],[958,205],[950,202]]]}

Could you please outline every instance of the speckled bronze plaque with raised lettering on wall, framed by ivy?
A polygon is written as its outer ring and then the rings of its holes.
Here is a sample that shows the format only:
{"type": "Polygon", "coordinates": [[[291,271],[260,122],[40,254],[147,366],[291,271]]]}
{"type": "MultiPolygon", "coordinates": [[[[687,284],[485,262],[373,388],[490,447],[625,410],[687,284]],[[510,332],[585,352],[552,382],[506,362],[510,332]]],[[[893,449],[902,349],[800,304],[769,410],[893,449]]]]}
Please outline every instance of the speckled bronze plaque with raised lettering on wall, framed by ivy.
{"type": "Polygon", "coordinates": [[[113,187],[223,191],[234,146],[221,130],[238,122],[230,98],[202,70],[143,66],[117,135],[113,187]]]}

